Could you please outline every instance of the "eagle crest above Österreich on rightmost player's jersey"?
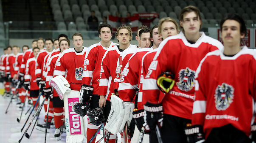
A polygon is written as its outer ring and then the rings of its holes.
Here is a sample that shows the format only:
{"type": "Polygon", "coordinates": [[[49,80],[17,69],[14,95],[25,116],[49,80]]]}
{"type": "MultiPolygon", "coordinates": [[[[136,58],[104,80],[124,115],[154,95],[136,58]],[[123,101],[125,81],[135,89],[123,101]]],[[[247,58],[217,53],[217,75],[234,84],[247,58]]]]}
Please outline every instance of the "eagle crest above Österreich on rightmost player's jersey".
{"type": "Polygon", "coordinates": [[[222,83],[222,85],[218,85],[214,98],[215,98],[215,106],[217,110],[226,110],[229,105],[233,102],[233,95],[234,89],[231,85],[226,83],[222,83]]]}

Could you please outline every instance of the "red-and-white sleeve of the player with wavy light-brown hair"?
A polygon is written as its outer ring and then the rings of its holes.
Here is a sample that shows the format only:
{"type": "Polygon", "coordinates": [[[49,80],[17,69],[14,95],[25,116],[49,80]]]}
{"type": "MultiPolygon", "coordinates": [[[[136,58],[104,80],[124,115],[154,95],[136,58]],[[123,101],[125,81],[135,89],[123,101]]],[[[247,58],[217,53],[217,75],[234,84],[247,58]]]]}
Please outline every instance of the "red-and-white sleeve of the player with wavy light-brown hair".
{"type": "Polygon", "coordinates": [[[109,83],[110,70],[109,70],[109,53],[106,54],[106,57],[102,59],[101,70],[100,70],[100,81],[99,81],[99,94],[107,94],[107,86],[109,83]]]}

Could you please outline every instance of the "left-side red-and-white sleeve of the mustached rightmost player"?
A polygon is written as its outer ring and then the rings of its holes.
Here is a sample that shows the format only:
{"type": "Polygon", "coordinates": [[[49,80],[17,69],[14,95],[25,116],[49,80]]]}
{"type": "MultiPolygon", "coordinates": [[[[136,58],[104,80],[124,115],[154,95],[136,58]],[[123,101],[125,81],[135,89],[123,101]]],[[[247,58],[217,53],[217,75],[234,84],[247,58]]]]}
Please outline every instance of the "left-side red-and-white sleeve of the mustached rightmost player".
{"type": "Polygon", "coordinates": [[[205,119],[206,110],[206,97],[205,97],[205,85],[204,85],[204,75],[205,74],[205,59],[202,59],[200,65],[197,67],[196,77],[195,77],[195,101],[193,103],[192,120],[193,125],[203,125],[205,119]],[[203,63],[202,63],[203,62],[203,63]]]}

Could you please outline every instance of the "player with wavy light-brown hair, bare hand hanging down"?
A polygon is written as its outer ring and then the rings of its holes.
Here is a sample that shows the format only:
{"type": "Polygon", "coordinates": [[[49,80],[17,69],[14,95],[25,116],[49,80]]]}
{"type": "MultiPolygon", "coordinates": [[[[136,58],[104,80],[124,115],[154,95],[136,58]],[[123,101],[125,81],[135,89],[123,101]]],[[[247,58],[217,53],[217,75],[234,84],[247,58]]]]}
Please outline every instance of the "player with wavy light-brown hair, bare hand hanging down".
{"type": "MultiPolygon", "coordinates": [[[[129,26],[120,26],[115,33],[118,39],[119,47],[109,48],[101,62],[100,83],[99,83],[99,107],[104,107],[104,116],[107,120],[110,113],[111,103],[110,95],[114,93],[114,77],[116,77],[117,61],[120,53],[134,45],[130,44],[132,40],[132,30],[129,26]]],[[[135,46],[136,47],[136,46],[135,46]]],[[[115,143],[115,135],[110,135],[110,143],[115,143]]]]}

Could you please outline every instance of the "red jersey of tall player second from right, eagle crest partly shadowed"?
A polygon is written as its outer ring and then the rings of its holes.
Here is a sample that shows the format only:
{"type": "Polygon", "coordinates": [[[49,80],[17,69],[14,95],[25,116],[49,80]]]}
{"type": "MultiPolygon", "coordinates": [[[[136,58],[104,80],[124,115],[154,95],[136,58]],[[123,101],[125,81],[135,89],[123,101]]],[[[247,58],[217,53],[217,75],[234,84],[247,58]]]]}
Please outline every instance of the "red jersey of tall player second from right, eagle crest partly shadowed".
{"type": "Polygon", "coordinates": [[[148,73],[143,79],[143,99],[158,103],[159,92],[156,84],[157,77],[170,71],[174,74],[175,84],[162,102],[163,113],[191,119],[194,101],[195,70],[205,55],[217,49],[223,50],[223,45],[200,32],[200,38],[191,44],[183,32],[166,38],[160,43],[154,60],[149,66],[148,73]]]}

